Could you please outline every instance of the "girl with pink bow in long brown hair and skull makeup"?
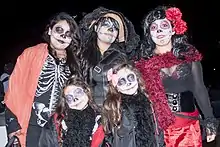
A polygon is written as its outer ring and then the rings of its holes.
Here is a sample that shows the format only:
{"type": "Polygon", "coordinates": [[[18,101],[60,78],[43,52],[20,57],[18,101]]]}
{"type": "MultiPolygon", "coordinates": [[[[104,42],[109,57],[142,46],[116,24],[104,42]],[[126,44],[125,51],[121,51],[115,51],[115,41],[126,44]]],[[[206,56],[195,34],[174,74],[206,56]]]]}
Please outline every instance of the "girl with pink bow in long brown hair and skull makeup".
{"type": "Polygon", "coordinates": [[[109,91],[102,110],[106,140],[112,147],[157,147],[153,109],[139,72],[118,63],[107,75],[109,91]]]}

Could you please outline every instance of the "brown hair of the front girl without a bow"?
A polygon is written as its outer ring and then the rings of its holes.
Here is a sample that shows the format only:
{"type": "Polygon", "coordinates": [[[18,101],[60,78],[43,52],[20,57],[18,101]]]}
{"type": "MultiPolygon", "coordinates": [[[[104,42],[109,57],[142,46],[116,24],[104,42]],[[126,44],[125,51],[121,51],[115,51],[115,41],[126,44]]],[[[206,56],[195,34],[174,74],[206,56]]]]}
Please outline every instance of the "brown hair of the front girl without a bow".
{"type": "Polygon", "coordinates": [[[62,93],[61,93],[61,97],[59,99],[59,102],[57,104],[57,107],[56,107],[56,113],[58,114],[58,120],[59,119],[62,119],[63,117],[66,117],[67,116],[67,110],[69,109],[69,106],[68,104],[66,103],[66,98],[65,98],[65,95],[64,95],[64,89],[68,86],[77,86],[77,87],[81,87],[84,92],[86,93],[86,95],[88,96],[89,98],[89,106],[95,111],[95,112],[99,112],[99,108],[98,106],[95,104],[95,101],[92,97],[92,92],[90,90],[90,87],[89,85],[87,85],[84,80],[82,80],[82,78],[79,78],[78,76],[72,76],[71,78],[69,78],[62,90],[62,93]]]}

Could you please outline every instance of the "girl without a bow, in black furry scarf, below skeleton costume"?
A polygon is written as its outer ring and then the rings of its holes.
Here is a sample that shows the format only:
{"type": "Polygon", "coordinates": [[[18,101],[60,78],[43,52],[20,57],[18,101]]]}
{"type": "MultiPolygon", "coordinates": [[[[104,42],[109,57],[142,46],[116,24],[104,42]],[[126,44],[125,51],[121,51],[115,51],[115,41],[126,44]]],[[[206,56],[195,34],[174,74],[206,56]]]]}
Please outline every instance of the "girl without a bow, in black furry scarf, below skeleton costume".
{"type": "Polygon", "coordinates": [[[39,147],[92,146],[92,138],[102,140],[102,136],[92,137],[100,130],[99,112],[89,86],[82,78],[71,77],[63,88],[56,113],[43,128],[39,147]]]}

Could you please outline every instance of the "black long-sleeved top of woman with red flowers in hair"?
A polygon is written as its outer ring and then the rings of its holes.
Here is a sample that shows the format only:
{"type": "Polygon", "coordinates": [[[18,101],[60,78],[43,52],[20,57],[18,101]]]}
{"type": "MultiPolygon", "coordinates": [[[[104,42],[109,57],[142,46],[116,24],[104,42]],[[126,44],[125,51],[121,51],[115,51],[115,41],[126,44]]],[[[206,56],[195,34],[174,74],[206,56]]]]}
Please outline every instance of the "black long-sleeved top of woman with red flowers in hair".
{"type": "MultiPolygon", "coordinates": [[[[202,65],[200,62],[181,64],[170,69],[161,69],[161,76],[166,93],[182,93],[190,91],[193,93],[200,110],[202,111],[205,124],[213,124],[217,127],[217,121],[213,116],[208,91],[203,82],[202,65]]],[[[192,101],[192,100],[188,100],[192,101]]],[[[181,101],[182,102],[182,101],[181,101]]],[[[180,104],[188,105],[187,101],[180,104]]],[[[213,126],[212,125],[212,126],[213,126]]]]}

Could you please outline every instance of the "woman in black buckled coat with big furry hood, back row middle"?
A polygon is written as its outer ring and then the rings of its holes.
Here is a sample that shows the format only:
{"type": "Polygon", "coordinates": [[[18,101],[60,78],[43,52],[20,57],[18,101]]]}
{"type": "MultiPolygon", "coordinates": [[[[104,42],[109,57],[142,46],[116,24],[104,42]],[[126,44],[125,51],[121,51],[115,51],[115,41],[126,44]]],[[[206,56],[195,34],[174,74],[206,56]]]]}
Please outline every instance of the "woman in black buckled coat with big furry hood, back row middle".
{"type": "Polygon", "coordinates": [[[107,92],[106,73],[117,60],[127,60],[136,49],[139,36],[121,13],[95,9],[80,23],[83,34],[81,67],[92,86],[96,103],[102,106],[107,92]]]}

